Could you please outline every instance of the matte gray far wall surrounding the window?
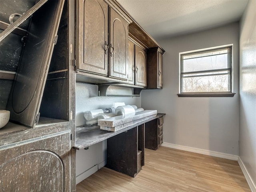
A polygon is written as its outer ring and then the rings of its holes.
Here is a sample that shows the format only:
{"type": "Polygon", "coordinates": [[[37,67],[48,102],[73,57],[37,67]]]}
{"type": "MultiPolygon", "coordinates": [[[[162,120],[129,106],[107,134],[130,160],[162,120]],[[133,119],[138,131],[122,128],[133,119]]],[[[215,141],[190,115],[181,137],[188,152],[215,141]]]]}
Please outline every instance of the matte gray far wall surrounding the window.
{"type": "Polygon", "coordinates": [[[164,116],[164,142],[238,155],[239,24],[157,40],[164,54],[163,90],[142,90],[141,105],[164,116]],[[234,97],[178,98],[179,53],[234,44],[234,97]]]}

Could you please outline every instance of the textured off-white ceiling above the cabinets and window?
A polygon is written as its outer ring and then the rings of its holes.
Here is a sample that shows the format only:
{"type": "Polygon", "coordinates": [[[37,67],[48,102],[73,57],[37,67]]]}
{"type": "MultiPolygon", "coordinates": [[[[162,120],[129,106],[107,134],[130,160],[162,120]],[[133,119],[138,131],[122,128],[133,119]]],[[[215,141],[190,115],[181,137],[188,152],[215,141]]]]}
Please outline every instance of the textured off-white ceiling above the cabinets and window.
{"type": "Polygon", "coordinates": [[[118,0],[153,38],[160,39],[240,20],[248,0],[118,0]]]}

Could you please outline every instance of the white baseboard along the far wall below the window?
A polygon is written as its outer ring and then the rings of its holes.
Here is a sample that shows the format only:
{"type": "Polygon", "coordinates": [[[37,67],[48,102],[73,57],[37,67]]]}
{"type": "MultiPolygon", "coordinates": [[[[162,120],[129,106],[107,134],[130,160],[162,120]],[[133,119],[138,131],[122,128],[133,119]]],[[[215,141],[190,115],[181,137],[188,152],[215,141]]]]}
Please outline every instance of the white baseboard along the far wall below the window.
{"type": "Polygon", "coordinates": [[[216,152],[216,151],[209,151],[209,150],[205,150],[205,149],[198,149],[198,148],[187,147],[187,146],[176,145],[176,144],[165,143],[165,142],[162,143],[161,146],[184,150],[184,151],[189,151],[189,152],[194,152],[194,153],[199,153],[199,154],[204,154],[204,155],[209,155],[209,156],[214,156],[214,157],[220,157],[220,158],[224,158],[224,159],[230,159],[230,160],[235,160],[235,161],[238,160],[237,155],[231,155],[231,154],[226,154],[226,153],[221,153],[221,152],[216,152]]]}

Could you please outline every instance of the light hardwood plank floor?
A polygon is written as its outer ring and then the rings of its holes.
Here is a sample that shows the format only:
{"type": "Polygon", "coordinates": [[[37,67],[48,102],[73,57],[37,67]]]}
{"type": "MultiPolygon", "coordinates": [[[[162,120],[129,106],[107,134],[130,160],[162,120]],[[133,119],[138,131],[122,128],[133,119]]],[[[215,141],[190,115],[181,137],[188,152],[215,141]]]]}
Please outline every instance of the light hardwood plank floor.
{"type": "Polygon", "coordinates": [[[76,185],[77,192],[250,192],[237,161],[166,147],[145,149],[135,178],[102,168],[76,185]]]}

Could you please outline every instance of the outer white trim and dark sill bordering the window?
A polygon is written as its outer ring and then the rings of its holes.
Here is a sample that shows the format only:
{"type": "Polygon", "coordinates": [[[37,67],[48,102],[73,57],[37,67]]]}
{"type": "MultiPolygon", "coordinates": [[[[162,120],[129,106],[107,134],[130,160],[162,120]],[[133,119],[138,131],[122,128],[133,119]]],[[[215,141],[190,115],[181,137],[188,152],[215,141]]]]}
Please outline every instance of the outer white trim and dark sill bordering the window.
{"type": "Polygon", "coordinates": [[[227,44],[222,46],[216,46],[216,47],[210,47],[210,48],[204,48],[204,49],[198,49],[198,50],[192,50],[192,51],[186,51],[186,52],[180,52],[179,53],[179,93],[177,94],[178,97],[233,97],[233,44],[227,44]],[[230,78],[230,91],[229,92],[181,92],[181,55],[183,54],[189,54],[189,53],[195,53],[195,52],[202,52],[207,50],[214,50],[219,48],[225,48],[225,47],[231,47],[231,78],[230,78]]]}

